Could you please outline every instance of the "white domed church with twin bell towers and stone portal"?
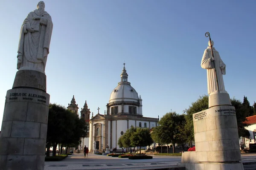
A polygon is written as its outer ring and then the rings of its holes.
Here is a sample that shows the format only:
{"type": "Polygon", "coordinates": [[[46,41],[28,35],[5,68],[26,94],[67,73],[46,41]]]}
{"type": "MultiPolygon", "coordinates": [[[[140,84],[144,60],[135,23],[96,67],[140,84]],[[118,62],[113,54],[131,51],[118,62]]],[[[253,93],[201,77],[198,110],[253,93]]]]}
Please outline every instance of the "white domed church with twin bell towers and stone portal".
{"type": "MultiPolygon", "coordinates": [[[[78,106],[74,97],[68,108],[77,113],[78,106]]],[[[83,146],[86,145],[89,151],[92,151],[94,142],[96,142],[96,149],[99,151],[105,150],[107,145],[110,148],[116,147],[120,149],[117,144],[118,139],[131,126],[149,129],[158,126],[159,119],[144,117],[142,111],[142,99],[131,86],[131,83],[128,82],[128,74],[124,63],[121,81],[111,92],[107,104],[107,112],[104,115],[98,112],[98,114],[89,119],[90,109],[88,109],[86,102],[84,108],[81,109],[81,118],[84,118],[89,123],[89,133],[88,138],[82,140],[79,149],[82,150],[83,146]]]]}

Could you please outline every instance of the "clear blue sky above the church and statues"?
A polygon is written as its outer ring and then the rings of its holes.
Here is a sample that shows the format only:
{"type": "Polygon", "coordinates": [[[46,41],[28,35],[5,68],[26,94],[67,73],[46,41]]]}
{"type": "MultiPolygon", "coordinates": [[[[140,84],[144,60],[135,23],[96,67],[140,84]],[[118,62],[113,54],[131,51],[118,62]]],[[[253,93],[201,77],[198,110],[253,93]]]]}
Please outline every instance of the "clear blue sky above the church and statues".
{"type": "MultiPolygon", "coordinates": [[[[2,0],[0,120],[16,74],[20,26],[39,0],[2,0]]],[[[230,97],[250,104],[255,91],[254,0],[45,0],[53,32],[47,59],[50,102],[104,114],[125,61],[128,81],[143,99],[143,115],[183,113],[207,94],[201,58],[209,31],[227,65],[230,97]],[[254,41],[253,41],[254,40],[254,41]],[[254,72],[253,72],[254,71],[254,72]]],[[[1,125],[2,121],[0,121],[1,125]]]]}

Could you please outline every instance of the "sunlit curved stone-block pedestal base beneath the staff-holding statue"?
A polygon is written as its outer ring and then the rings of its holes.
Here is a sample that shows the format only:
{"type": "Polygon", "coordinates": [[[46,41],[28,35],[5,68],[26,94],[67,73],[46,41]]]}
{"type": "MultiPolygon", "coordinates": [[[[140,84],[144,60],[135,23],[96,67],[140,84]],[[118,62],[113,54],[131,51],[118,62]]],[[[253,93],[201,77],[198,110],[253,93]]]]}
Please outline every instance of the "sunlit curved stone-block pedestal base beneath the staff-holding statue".
{"type": "Polygon", "coordinates": [[[236,112],[233,106],[194,113],[195,152],[182,153],[187,170],[243,170],[236,112]]]}

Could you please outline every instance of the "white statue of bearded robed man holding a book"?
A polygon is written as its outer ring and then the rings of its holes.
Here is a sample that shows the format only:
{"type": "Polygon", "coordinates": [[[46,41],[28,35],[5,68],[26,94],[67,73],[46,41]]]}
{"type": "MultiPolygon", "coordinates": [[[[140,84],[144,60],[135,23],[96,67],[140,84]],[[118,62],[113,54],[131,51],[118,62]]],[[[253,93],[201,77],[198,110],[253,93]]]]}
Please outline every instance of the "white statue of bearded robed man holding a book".
{"type": "Polygon", "coordinates": [[[18,70],[35,70],[44,73],[52,36],[52,18],[44,11],[44,2],[28,14],[20,30],[17,55],[18,70]]]}

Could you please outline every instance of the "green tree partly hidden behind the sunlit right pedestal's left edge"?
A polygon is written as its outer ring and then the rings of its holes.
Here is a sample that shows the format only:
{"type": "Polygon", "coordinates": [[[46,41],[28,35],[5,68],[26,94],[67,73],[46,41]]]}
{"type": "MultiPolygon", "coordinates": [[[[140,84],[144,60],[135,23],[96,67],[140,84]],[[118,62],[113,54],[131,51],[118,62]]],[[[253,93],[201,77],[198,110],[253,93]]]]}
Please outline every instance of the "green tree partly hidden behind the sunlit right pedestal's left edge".
{"type": "Polygon", "coordinates": [[[186,136],[187,142],[189,142],[189,146],[191,147],[192,142],[195,140],[194,138],[194,124],[193,124],[193,114],[208,109],[208,96],[203,95],[199,96],[197,101],[192,102],[191,106],[188,109],[185,109],[185,119],[186,124],[184,127],[184,135],[186,136]]]}

